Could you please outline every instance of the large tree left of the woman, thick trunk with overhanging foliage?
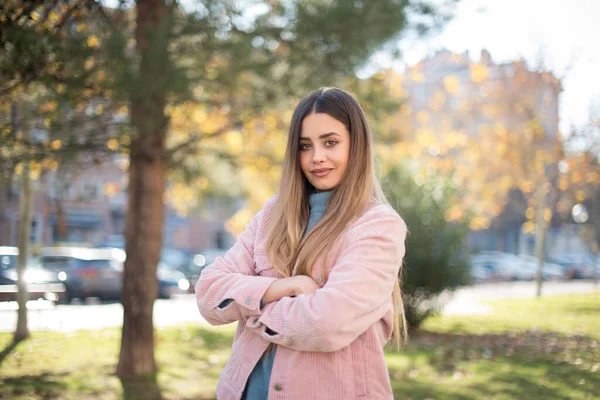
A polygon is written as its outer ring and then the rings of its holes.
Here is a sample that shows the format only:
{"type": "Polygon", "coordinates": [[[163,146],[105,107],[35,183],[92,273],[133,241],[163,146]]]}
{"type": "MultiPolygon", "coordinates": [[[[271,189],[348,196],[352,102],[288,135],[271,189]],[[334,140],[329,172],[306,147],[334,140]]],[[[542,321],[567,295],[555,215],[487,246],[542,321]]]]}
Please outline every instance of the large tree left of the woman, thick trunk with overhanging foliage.
{"type": "MultiPolygon", "coordinates": [[[[427,25],[427,17],[436,17],[437,10],[429,3],[255,1],[249,7],[247,2],[211,0],[185,8],[163,0],[138,1],[133,8],[120,1],[117,8],[109,8],[87,0],[9,2],[8,12],[0,15],[11,34],[1,38],[9,54],[2,59],[3,71],[7,67],[3,82],[9,83],[4,104],[35,83],[52,94],[48,111],[61,111],[47,118],[48,129],[57,121],[78,121],[72,114],[88,107],[92,114],[106,115],[109,123],[99,130],[108,137],[66,124],[62,132],[67,140],[54,137],[60,131],[54,129],[48,137],[56,148],[68,142],[74,143],[74,152],[88,151],[87,138],[100,137],[103,149],[129,156],[119,377],[156,369],[150,294],[157,284],[168,168],[206,189],[207,177],[196,179],[198,170],[212,172],[222,165],[220,156],[228,155],[219,143],[215,151],[205,147],[207,140],[227,135],[230,145],[239,147],[245,123],[308,88],[353,75],[375,51],[405,31],[409,11],[423,17],[418,18],[419,29],[427,25]],[[45,41],[45,36],[51,40],[45,41]],[[29,46],[36,51],[26,57],[29,46]],[[20,74],[21,62],[33,66],[34,72],[20,74]],[[62,87],[56,96],[55,86],[62,87]],[[183,111],[179,116],[184,120],[171,130],[178,111],[183,111]],[[188,115],[204,115],[204,124],[186,124],[188,115]],[[129,129],[113,129],[113,121],[129,129]],[[208,168],[197,162],[203,152],[208,168]]],[[[36,107],[39,103],[34,99],[36,107]]],[[[22,139],[12,121],[5,125],[2,144],[13,148],[10,144],[22,139]]],[[[19,153],[8,156],[23,158],[19,153]]],[[[183,198],[189,198],[190,191],[184,191],[183,198]]],[[[178,199],[178,193],[171,198],[178,199]]]]}

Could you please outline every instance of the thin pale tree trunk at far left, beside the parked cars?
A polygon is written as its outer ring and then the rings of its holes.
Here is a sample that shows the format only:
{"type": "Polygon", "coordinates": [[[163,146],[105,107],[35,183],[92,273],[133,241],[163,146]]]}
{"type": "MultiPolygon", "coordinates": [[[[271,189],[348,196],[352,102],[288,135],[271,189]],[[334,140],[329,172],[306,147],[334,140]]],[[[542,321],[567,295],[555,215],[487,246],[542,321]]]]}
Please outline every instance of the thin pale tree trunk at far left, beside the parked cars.
{"type": "Polygon", "coordinates": [[[29,258],[29,237],[31,236],[31,212],[33,203],[33,185],[29,175],[29,161],[23,162],[23,171],[21,172],[21,196],[19,204],[19,232],[17,247],[19,256],[17,258],[17,329],[14,334],[14,341],[18,342],[29,337],[29,328],[27,326],[27,282],[25,282],[25,270],[29,258]]]}

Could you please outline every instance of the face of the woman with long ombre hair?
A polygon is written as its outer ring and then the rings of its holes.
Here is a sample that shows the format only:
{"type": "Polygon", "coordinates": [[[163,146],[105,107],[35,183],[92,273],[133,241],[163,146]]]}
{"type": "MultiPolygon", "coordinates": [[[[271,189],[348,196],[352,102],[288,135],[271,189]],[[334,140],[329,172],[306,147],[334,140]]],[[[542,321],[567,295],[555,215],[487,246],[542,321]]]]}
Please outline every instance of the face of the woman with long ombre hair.
{"type": "Polygon", "coordinates": [[[329,114],[310,114],[302,121],[300,168],[318,192],[342,181],[350,158],[350,134],[329,114]]]}

